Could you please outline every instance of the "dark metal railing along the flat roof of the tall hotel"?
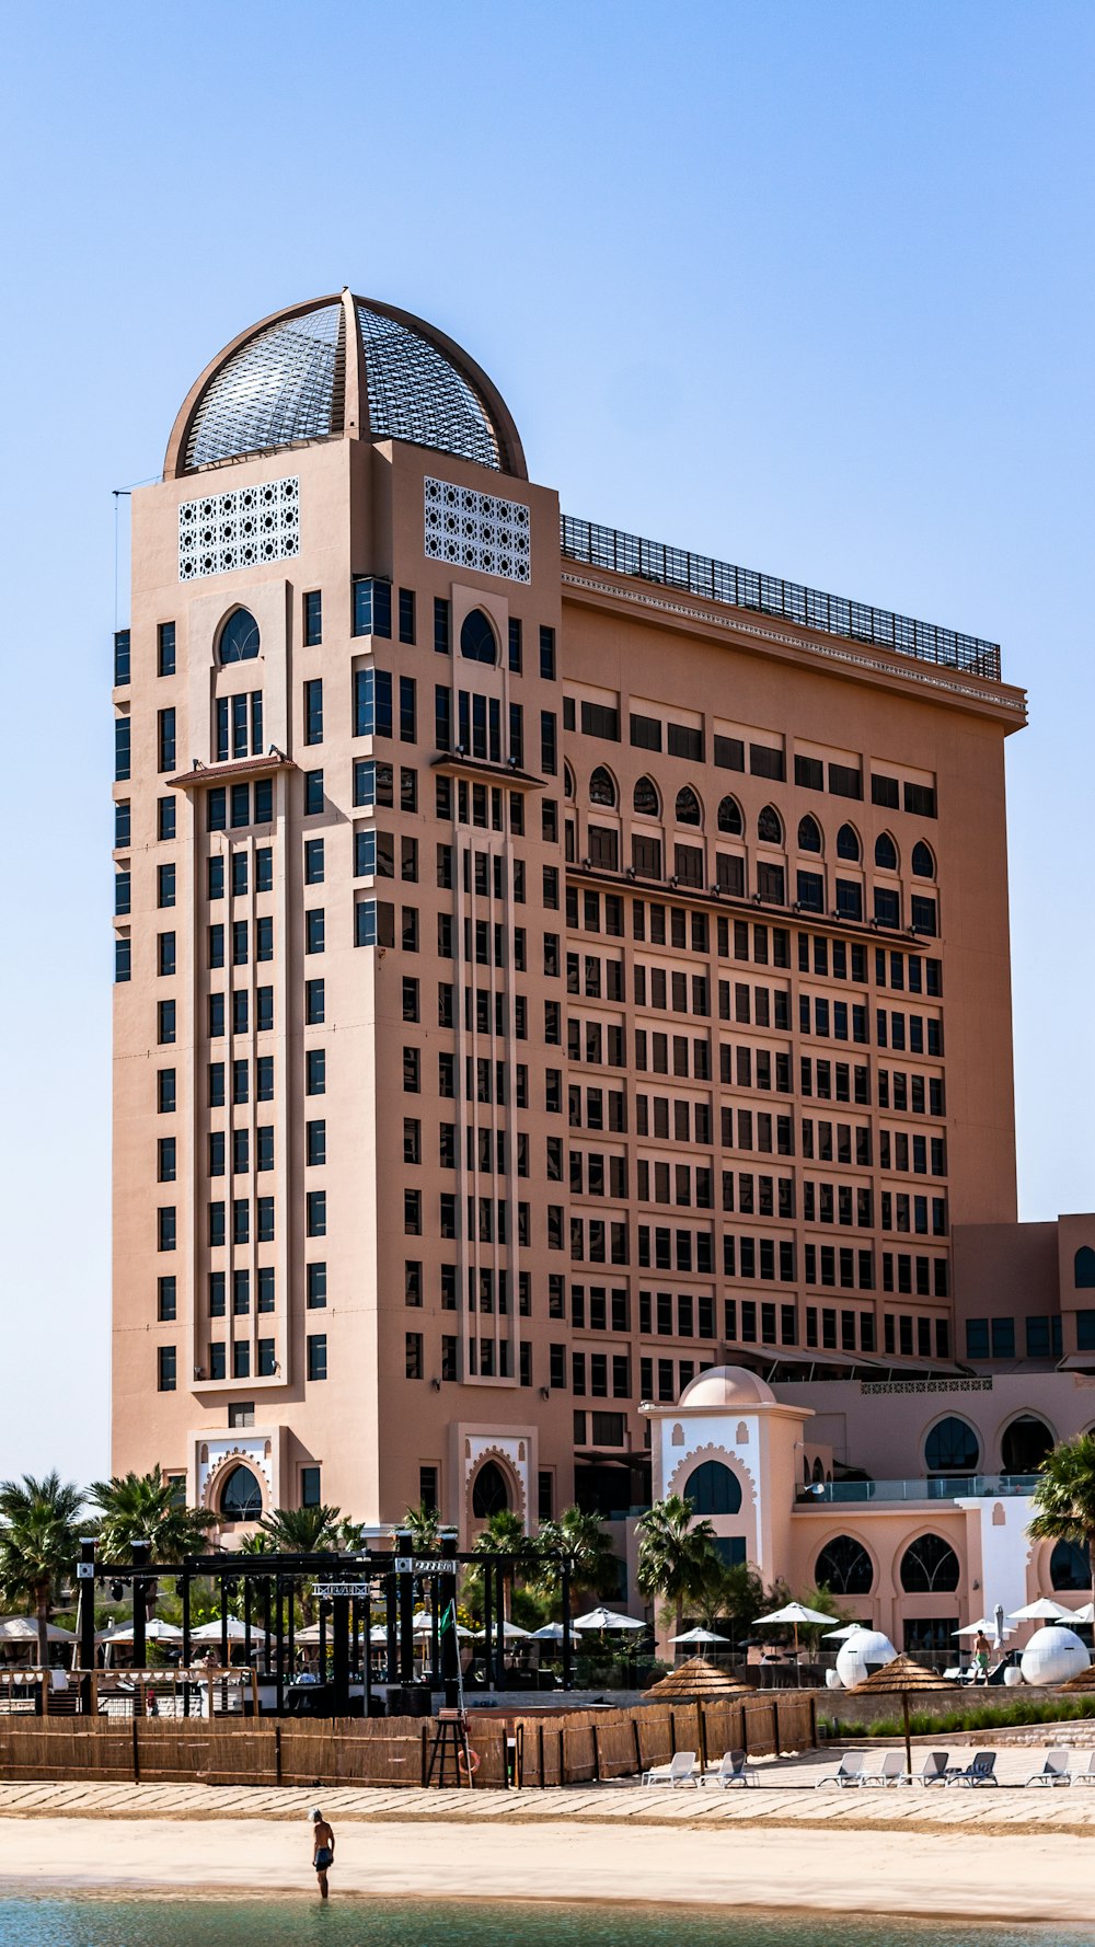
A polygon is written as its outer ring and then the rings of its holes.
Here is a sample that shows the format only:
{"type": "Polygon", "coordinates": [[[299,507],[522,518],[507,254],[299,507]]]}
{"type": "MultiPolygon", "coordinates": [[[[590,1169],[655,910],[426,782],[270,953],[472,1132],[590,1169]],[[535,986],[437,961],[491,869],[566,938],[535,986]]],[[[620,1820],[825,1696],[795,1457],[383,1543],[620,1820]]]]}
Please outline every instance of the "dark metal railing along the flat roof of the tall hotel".
{"type": "Polygon", "coordinates": [[[912,615],[877,609],[869,602],[828,596],[820,588],[803,588],[799,582],[760,574],[756,569],[736,569],[731,561],[666,547],[664,541],[643,541],[637,533],[575,520],[571,514],[561,516],[559,528],[567,561],[610,569],[614,574],[633,574],[637,580],[682,588],[707,602],[775,615],[801,629],[842,635],[851,643],[871,643],[892,648],[898,656],[916,656],[918,662],[935,662],[1000,681],[1000,644],[986,643],[980,635],[939,629],[929,621],[914,621],[912,615]]]}

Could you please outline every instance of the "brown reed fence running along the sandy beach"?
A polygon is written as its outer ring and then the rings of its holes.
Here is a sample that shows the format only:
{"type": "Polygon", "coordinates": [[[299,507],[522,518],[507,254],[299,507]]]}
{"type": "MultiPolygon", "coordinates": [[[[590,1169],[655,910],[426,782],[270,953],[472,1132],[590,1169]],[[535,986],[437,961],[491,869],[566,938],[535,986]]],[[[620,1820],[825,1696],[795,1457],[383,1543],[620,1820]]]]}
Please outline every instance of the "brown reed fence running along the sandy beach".
{"type": "MultiPolygon", "coordinates": [[[[366,1717],[331,1723],[253,1717],[0,1717],[0,1782],[142,1782],[210,1785],[423,1785],[434,1719],[366,1717]]],[[[573,1785],[633,1778],[698,1750],[750,1756],[816,1743],[809,1694],[725,1704],[643,1704],[557,1715],[470,1711],[475,1787],[573,1785]]]]}

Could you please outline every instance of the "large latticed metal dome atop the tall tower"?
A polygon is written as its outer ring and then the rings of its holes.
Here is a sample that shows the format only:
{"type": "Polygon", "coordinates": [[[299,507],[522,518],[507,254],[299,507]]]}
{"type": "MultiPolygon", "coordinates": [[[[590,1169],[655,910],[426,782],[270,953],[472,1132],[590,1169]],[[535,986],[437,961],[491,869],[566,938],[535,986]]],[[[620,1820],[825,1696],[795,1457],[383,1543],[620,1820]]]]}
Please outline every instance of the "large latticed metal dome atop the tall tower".
{"type": "Polygon", "coordinates": [[[512,417],[468,352],[421,317],[349,290],[234,339],[183,403],[164,473],[341,436],[405,440],[528,479],[512,417]]]}

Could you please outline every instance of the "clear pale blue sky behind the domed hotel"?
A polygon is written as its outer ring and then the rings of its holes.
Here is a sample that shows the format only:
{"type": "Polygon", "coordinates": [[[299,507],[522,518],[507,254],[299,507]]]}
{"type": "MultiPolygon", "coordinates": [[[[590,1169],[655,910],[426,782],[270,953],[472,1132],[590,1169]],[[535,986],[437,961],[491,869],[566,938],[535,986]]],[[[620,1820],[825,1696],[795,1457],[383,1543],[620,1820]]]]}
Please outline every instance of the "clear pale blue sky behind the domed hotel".
{"type": "Polygon", "coordinates": [[[1089,1209],[1091,6],[107,0],[4,53],[0,1476],[107,1464],[111,489],[341,284],[569,512],[1001,641],[1021,1209],[1089,1209]]]}

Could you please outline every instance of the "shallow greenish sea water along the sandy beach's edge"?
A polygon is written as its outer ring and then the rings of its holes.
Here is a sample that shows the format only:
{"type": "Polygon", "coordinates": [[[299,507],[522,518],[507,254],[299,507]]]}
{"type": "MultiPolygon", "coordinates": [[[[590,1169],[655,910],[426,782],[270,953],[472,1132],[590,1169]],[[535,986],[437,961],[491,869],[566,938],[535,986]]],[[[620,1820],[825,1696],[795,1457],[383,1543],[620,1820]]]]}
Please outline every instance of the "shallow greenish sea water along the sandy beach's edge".
{"type": "Polygon", "coordinates": [[[1091,1928],[472,1900],[0,1898],[0,1947],[1087,1947],[1091,1928]]]}

